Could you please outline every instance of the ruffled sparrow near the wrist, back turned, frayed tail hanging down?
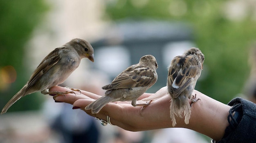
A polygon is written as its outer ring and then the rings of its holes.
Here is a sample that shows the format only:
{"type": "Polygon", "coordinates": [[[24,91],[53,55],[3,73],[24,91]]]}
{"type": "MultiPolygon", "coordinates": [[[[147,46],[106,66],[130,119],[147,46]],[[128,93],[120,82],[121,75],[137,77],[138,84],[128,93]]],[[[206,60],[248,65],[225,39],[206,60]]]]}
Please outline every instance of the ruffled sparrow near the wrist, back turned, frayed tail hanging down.
{"type": "Polygon", "coordinates": [[[173,127],[176,125],[175,115],[185,117],[185,123],[189,124],[191,106],[196,100],[196,94],[192,95],[195,84],[203,69],[204,54],[198,48],[190,48],[182,56],[176,56],[168,68],[167,87],[172,100],[170,103],[170,116],[173,127]],[[192,100],[192,104],[189,104],[192,100]]]}

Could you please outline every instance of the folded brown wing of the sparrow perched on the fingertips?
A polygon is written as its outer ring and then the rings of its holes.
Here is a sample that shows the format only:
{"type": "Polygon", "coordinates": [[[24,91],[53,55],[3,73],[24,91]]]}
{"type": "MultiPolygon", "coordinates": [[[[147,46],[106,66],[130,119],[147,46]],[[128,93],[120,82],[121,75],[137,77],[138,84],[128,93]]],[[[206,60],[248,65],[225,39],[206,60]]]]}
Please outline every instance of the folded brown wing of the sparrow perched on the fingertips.
{"type": "Polygon", "coordinates": [[[60,48],[54,49],[38,65],[28,81],[27,89],[29,89],[29,87],[32,87],[52,66],[58,63],[58,61],[61,59],[58,54],[59,50],[60,48]]]}

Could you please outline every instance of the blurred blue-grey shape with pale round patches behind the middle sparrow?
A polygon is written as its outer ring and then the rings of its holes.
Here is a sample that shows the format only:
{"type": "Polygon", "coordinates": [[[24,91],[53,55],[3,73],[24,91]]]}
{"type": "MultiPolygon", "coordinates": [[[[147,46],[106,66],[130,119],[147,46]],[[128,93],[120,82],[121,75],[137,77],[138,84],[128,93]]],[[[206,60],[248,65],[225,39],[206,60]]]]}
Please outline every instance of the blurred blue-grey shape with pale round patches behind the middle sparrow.
{"type": "Polygon", "coordinates": [[[158,63],[158,80],[149,91],[166,86],[171,60],[195,46],[190,26],[181,22],[128,19],[116,22],[104,33],[105,37],[92,43],[93,67],[115,78],[128,66],[138,63],[141,56],[152,54],[158,63]]]}

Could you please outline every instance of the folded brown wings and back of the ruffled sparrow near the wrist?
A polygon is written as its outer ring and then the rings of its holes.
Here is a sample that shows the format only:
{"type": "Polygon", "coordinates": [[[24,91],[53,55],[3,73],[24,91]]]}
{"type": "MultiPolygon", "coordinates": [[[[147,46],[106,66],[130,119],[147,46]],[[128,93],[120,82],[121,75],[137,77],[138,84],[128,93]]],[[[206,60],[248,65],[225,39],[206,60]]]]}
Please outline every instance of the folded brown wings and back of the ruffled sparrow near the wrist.
{"type": "Polygon", "coordinates": [[[171,83],[173,97],[177,98],[193,82],[200,71],[200,63],[194,56],[176,56],[168,73],[168,82],[171,83]]]}

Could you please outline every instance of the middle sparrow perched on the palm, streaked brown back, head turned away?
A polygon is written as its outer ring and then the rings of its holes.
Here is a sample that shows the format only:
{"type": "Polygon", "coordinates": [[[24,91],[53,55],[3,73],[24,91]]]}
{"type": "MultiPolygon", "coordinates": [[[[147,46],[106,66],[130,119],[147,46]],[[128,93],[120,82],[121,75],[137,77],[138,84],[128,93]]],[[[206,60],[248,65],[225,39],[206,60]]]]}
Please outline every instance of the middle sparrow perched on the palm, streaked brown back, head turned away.
{"type": "MultiPolygon", "coordinates": [[[[131,65],[121,72],[109,85],[103,86],[107,90],[105,95],[85,107],[93,114],[99,113],[101,108],[109,102],[132,101],[132,106],[146,107],[150,102],[137,104],[137,99],[157,81],[157,61],[152,55],[142,56],[139,63],[131,65]]],[[[141,109],[143,109],[141,108],[141,109]]]]}

